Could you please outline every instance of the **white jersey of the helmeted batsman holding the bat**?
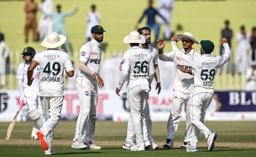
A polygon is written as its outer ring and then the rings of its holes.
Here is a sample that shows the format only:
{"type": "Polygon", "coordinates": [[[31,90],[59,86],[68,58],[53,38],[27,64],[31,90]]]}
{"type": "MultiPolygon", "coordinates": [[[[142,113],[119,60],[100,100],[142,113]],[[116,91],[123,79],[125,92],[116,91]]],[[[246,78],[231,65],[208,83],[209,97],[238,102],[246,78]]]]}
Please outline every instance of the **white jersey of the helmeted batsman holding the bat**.
{"type": "Polygon", "coordinates": [[[36,68],[33,71],[33,77],[34,80],[32,82],[31,86],[27,85],[28,77],[27,77],[27,71],[30,63],[20,63],[17,70],[17,79],[23,80],[23,88],[29,88],[29,87],[38,87],[39,86],[39,80],[40,80],[40,66],[36,66],[36,68]]]}

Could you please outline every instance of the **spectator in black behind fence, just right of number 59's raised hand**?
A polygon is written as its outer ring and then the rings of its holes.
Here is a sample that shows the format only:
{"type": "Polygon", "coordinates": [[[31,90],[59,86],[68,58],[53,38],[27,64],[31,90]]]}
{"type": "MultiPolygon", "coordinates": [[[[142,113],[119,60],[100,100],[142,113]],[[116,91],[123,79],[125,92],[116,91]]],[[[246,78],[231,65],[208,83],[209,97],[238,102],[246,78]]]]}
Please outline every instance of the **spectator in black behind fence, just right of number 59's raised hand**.
{"type": "MultiPolygon", "coordinates": [[[[229,21],[225,20],[224,24],[225,24],[225,28],[221,30],[221,38],[227,39],[227,43],[231,50],[231,38],[233,37],[233,33],[232,33],[232,30],[229,28],[229,24],[230,24],[229,21]]],[[[222,44],[220,44],[220,55],[223,55],[223,54],[224,54],[224,47],[222,44]]],[[[232,58],[230,58],[228,65],[229,65],[229,67],[232,66],[232,58]]],[[[230,67],[230,68],[232,68],[232,67],[230,67]]],[[[223,66],[220,67],[220,69],[219,69],[220,73],[222,73],[222,70],[223,70],[223,66]]],[[[232,69],[230,69],[230,70],[232,70],[232,69]]],[[[227,70],[227,71],[229,71],[229,70],[227,70]]]]}

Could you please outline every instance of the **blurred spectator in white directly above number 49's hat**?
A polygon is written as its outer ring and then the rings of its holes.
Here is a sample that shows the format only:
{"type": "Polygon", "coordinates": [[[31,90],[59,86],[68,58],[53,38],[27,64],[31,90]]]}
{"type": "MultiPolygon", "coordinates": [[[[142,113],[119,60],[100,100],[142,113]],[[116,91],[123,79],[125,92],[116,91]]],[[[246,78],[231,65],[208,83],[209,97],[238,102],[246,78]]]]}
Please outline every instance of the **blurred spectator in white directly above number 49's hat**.
{"type": "Polygon", "coordinates": [[[42,41],[46,38],[51,32],[53,27],[53,21],[50,16],[53,13],[53,1],[52,0],[42,0],[40,9],[43,13],[39,21],[39,39],[42,41]]]}

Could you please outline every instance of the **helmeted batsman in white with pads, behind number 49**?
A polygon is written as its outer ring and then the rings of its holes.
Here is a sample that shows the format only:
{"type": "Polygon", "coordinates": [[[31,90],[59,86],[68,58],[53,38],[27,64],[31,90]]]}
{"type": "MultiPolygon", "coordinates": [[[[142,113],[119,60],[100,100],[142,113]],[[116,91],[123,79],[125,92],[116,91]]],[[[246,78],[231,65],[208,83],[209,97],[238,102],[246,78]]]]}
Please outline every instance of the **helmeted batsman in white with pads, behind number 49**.
{"type": "Polygon", "coordinates": [[[20,104],[23,101],[24,105],[27,104],[29,111],[28,116],[33,121],[33,129],[31,133],[32,139],[38,139],[36,132],[41,129],[43,126],[43,110],[41,106],[41,102],[39,96],[37,95],[39,92],[39,77],[40,77],[40,67],[39,65],[36,66],[33,72],[34,82],[31,86],[27,85],[27,71],[28,67],[36,54],[36,51],[32,47],[26,47],[23,50],[23,59],[24,62],[20,63],[17,70],[17,79],[18,79],[18,86],[19,91],[21,93],[20,97],[20,104]]]}

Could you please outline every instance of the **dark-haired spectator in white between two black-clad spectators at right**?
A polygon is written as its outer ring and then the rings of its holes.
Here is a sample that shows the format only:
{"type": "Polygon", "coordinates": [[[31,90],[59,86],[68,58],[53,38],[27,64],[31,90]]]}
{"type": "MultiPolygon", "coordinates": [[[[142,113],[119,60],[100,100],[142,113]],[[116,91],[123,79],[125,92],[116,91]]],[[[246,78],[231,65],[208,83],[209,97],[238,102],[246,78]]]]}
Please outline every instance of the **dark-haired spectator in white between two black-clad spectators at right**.
{"type": "Polygon", "coordinates": [[[246,72],[248,68],[248,55],[250,48],[250,34],[245,31],[245,26],[240,27],[240,32],[237,33],[237,64],[238,72],[246,72]]]}

